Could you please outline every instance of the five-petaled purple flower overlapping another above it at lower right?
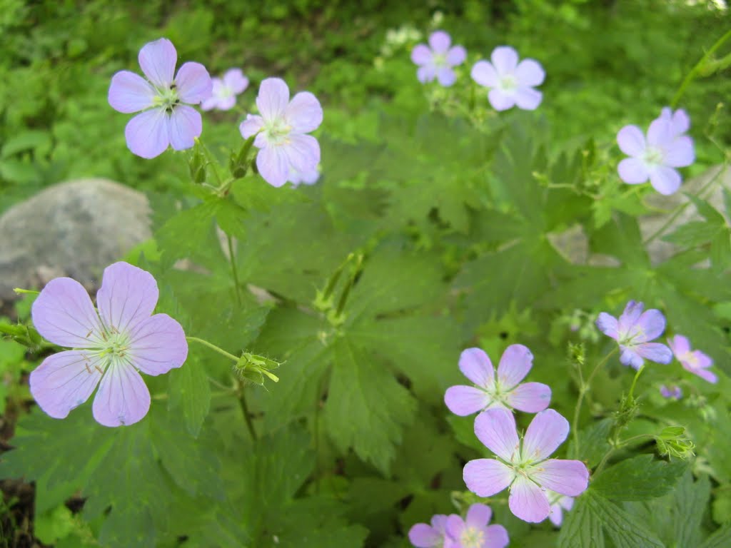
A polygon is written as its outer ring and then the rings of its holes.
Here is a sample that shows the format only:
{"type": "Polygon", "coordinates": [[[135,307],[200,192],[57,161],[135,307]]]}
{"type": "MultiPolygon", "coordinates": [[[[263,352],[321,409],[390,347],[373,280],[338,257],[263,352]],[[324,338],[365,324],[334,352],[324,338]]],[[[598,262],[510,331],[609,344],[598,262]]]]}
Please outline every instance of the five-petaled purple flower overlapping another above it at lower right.
{"type": "Polygon", "coordinates": [[[569,422],[553,409],[534,416],[522,444],[515,418],[504,409],[477,415],[474,433],[496,458],[465,465],[467,488],[479,497],[491,497],[510,487],[508,506],[521,520],[542,522],[548,517],[546,490],[575,497],[588,487],[589,472],[580,460],[548,458],[569,435],[569,422]]]}

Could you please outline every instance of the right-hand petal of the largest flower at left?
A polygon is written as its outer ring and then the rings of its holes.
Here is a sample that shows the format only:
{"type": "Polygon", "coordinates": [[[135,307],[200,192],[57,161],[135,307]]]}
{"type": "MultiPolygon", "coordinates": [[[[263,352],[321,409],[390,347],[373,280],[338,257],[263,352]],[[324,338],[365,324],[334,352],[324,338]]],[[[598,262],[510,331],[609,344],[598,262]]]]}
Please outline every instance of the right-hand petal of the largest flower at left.
{"type": "Polygon", "coordinates": [[[129,333],[129,359],[148,375],[161,375],[179,368],[188,357],[183,327],[167,314],[140,321],[129,333]]]}

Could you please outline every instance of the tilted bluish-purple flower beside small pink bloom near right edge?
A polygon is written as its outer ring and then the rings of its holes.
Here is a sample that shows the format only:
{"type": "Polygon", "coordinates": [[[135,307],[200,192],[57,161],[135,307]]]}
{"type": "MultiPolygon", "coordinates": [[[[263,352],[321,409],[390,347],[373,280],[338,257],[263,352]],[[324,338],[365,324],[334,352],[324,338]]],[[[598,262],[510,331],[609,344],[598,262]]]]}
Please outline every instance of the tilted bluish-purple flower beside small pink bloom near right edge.
{"type": "Polygon", "coordinates": [[[673,361],[673,352],[661,343],[650,343],[662,335],[665,330],[665,316],[652,308],[643,312],[642,302],[631,300],[619,316],[619,321],[606,312],[599,313],[596,327],[599,331],[619,343],[621,354],[619,361],[639,369],[649,359],[658,363],[673,361]]]}

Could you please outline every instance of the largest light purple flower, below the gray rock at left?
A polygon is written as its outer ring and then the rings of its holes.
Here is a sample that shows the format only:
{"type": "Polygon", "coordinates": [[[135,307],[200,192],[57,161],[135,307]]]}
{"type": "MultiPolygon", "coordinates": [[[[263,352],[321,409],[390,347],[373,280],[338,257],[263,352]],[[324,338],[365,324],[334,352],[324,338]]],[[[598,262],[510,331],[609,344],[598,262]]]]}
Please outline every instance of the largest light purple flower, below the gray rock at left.
{"type": "Polygon", "coordinates": [[[181,324],[154,314],[155,278],[126,262],[108,266],[94,308],[86,289],[71,278],[48,282],[33,303],[33,324],[65,350],[43,360],[30,377],[31,394],[54,419],[80,406],[96,385],[94,419],[105,426],[132,425],[150,408],[138,370],[161,375],[188,356],[181,324]]]}

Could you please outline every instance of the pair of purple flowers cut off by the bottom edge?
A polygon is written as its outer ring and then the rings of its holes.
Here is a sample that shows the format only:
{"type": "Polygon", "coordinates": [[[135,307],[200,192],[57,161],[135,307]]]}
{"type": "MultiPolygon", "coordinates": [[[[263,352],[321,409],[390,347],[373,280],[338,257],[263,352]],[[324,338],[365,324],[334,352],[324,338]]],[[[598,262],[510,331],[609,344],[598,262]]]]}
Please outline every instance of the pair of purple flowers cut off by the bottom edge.
{"type": "Polygon", "coordinates": [[[505,548],[510,541],[502,525],[488,525],[493,511],[485,504],[473,504],[464,519],[458,514],[436,514],[431,525],[417,523],[409,530],[409,541],[418,548],[505,548]]]}

